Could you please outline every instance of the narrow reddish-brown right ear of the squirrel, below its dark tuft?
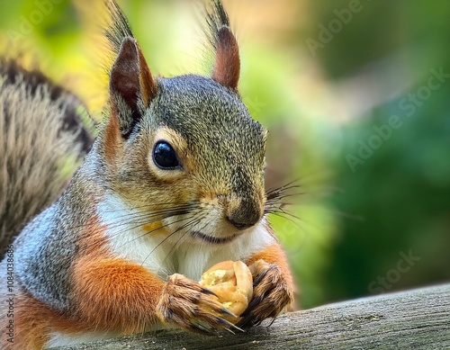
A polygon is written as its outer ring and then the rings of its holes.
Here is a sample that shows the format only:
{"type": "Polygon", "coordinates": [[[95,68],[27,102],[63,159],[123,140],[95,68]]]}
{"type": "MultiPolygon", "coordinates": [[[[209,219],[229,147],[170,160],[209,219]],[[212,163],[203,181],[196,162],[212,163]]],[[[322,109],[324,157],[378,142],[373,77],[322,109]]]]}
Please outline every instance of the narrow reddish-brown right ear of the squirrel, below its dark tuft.
{"type": "Polygon", "coordinates": [[[222,26],[216,35],[216,60],[211,77],[220,85],[237,90],[240,73],[238,41],[228,26],[222,26]]]}

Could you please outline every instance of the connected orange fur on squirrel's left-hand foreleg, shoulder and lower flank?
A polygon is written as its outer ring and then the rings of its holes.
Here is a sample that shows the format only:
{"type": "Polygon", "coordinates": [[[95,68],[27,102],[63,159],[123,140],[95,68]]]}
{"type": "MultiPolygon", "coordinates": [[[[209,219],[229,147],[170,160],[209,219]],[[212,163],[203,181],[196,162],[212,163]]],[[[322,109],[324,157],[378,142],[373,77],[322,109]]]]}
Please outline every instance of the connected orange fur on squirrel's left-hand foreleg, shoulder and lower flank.
{"type": "Polygon", "coordinates": [[[14,296],[14,343],[7,342],[1,310],[2,349],[40,349],[51,332],[77,336],[94,330],[142,332],[157,321],[155,308],[165,283],[144,267],[112,258],[96,217],[85,226],[72,269],[72,314],[59,314],[26,292],[14,296]]]}

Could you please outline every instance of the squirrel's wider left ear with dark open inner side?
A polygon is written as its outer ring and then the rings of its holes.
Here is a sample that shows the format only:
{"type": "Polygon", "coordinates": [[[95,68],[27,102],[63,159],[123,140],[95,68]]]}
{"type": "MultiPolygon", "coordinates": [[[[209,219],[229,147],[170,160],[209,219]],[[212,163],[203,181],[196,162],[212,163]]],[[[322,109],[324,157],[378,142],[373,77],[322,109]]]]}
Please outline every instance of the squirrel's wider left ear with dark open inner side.
{"type": "Polygon", "coordinates": [[[112,113],[119,120],[122,135],[128,135],[141,117],[139,98],[144,107],[148,107],[155,94],[157,83],[151,76],[138,42],[126,37],[121,42],[110,76],[112,113]]]}

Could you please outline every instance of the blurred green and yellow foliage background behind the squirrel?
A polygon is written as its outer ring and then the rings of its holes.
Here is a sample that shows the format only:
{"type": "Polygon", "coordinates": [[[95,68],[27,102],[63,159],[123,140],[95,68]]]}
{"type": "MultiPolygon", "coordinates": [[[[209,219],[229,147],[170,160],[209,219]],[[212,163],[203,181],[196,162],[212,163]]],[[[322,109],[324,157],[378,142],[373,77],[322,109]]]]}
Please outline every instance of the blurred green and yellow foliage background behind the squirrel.
{"type": "MultiPolygon", "coordinates": [[[[0,49],[106,98],[94,0],[0,1],[0,49]]],[[[156,75],[207,75],[199,2],[120,1],[156,75]]],[[[270,130],[267,186],[302,193],[271,220],[299,306],[450,281],[450,3],[225,1],[240,94],[270,130]]]]}

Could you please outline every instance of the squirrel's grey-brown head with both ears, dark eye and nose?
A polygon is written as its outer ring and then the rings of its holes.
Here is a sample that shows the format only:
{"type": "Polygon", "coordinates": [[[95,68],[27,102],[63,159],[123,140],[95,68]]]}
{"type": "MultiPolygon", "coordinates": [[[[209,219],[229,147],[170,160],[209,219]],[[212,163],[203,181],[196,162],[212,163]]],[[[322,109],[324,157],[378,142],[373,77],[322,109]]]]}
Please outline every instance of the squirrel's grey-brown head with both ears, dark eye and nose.
{"type": "Polygon", "coordinates": [[[238,95],[237,40],[228,25],[216,29],[211,77],[155,79],[138,42],[125,37],[99,136],[113,193],[168,232],[212,244],[254,227],[266,204],[266,130],[238,95]]]}

